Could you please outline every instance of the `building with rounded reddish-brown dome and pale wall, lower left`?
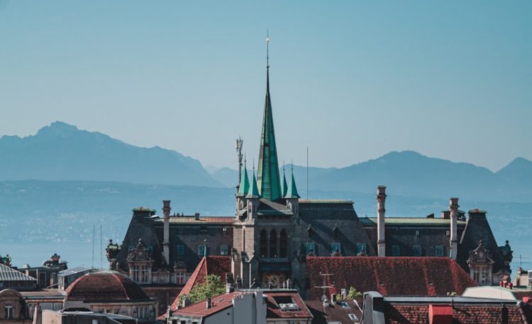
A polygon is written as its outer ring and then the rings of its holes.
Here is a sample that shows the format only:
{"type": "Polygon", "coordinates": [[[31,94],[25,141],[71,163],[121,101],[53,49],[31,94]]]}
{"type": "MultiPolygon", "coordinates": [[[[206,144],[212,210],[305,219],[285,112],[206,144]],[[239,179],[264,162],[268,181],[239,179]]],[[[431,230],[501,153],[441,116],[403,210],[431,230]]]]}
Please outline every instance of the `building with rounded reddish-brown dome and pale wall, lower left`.
{"type": "Polygon", "coordinates": [[[140,323],[155,320],[155,301],[138,284],[115,271],[85,274],[65,290],[66,310],[112,313],[138,318],[140,323]]]}

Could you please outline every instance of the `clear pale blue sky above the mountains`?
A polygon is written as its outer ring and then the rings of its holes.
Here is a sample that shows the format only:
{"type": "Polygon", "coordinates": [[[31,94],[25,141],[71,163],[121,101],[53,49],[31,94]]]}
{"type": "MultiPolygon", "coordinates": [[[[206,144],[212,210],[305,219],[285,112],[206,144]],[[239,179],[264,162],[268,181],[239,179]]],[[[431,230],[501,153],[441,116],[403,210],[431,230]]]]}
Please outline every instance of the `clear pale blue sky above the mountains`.
{"type": "Polygon", "coordinates": [[[55,120],[205,166],[532,159],[532,1],[0,0],[0,135],[55,120]],[[279,161],[281,163],[281,161],[279,161]]]}

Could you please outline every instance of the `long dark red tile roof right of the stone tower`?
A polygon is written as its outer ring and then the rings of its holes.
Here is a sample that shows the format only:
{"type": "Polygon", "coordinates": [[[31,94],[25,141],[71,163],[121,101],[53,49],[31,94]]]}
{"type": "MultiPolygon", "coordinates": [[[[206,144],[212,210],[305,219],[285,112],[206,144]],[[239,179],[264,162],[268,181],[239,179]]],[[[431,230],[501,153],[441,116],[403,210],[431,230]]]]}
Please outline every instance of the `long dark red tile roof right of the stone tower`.
{"type": "MultiPolygon", "coordinates": [[[[310,282],[311,301],[321,299],[321,274],[328,277],[326,286],[333,286],[327,295],[340,288],[355,287],[358,291],[379,291],[383,296],[444,296],[475,287],[469,274],[449,258],[414,257],[307,257],[306,276],[310,282]]],[[[327,277],[326,277],[327,278],[327,277]]],[[[338,291],[339,292],[339,291],[338,291]]]]}

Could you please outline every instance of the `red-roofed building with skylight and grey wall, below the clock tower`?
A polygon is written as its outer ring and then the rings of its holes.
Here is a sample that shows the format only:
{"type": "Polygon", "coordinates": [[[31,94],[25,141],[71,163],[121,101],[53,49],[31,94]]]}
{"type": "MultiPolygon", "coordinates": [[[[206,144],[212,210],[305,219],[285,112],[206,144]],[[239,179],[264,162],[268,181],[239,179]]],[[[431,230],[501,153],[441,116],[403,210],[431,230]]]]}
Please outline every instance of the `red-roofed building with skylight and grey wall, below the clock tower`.
{"type": "Polygon", "coordinates": [[[227,291],[167,314],[167,323],[311,324],[312,313],[294,289],[227,291]]]}

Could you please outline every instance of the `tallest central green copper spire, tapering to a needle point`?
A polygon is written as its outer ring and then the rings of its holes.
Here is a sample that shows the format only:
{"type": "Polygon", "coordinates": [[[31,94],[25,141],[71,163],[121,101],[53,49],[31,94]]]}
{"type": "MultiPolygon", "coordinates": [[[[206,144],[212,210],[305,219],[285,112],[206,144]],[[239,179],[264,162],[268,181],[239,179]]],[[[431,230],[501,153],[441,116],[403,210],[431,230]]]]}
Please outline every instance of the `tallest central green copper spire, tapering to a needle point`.
{"type": "MultiPolygon", "coordinates": [[[[270,42],[270,38],[267,38],[270,42]]],[[[269,200],[282,197],[279,163],[277,163],[277,147],[273,129],[272,101],[270,99],[270,66],[266,69],[266,100],[262,119],[262,136],[260,137],[259,168],[257,185],[260,195],[269,200]]]]}

